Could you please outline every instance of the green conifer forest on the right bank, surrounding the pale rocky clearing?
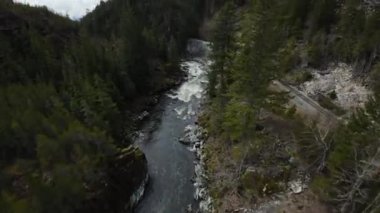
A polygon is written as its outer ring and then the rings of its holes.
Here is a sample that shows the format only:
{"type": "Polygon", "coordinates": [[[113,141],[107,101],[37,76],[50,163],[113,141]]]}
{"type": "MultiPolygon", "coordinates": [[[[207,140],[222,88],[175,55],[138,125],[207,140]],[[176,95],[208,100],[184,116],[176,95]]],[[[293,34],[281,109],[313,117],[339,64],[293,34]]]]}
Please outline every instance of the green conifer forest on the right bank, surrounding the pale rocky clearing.
{"type": "MultiPolygon", "coordinates": [[[[203,122],[212,141],[208,172],[217,211],[233,209],[236,200],[257,203],[284,191],[279,183],[291,179],[294,167],[304,168],[311,193],[328,211],[301,205],[284,212],[380,211],[379,2],[225,1],[211,40],[210,103],[203,122]],[[286,94],[268,88],[275,79],[310,81],[305,70],[331,63],[353,65],[352,75],[373,95],[345,122],[321,131],[302,122],[295,108],[284,107],[286,94]],[[285,127],[266,131],[263,111],[280,117],[285,127]],[[285,129],[289,135],[281,137],[285,129]]],[[[335,92],[330,96],[336,98],[335,92]]]]}

